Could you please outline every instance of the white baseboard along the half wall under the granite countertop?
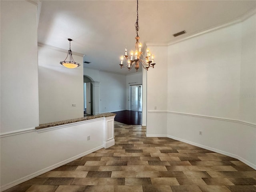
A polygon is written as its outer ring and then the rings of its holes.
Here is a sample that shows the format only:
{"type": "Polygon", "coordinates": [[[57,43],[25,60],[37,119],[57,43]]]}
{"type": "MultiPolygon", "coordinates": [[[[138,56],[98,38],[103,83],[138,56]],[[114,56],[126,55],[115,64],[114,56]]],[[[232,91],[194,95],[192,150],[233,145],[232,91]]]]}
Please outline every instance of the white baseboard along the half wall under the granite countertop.
{"type": "Polygon", "coordinates": [[[32,179],[32,178],[35,178],[35,177],[37,177],[37,176],[39,176],[39,175],[41,175],[41,174],[44,174],[44,173],[46,173],[46,172],[48,172],[48,171],[54,170],[55,168],[58,168],[58,167],[60,167],[60,166],[62,166],[62,165],[64,165],[64,164],[67,164],[67,163],[72,162],[72,161],[74,161],[74,160],[76,160],[76,159],[78,159],[78,158],[81,158],[81,157],[86,156],[86,155],[88,155],[88,154],[90,154],[90,153],[92,153],[92,152],[95,152],[95,151],[97,151],[97,150],[99,150],[99,149],[102,149],[103,147],[104,147],[103,145],[98,146],[98,147],[96,147],[96,148],[93,148],[93,149],[88,150],[88,151],[86,151],[86,152],[83,152],[83,153],[81,153],[81,154],[78,154],[78,155],[76,155],[76,156],[73,156],[73,157],[71,157],[71,158],[68,158],[68,159],[66,159],[66,160],[64,160],[64,161],[62,161],[62,162],[58,162],[58,163],[56,163],[56,164],[54,164],[54,165],[52,165],[52,166],[49,166],[49,167],[47,167],[47,168],[44,168],[44,169],[42,169],[42,170],[39,170],[39,171],[37,171],[37,172],[34,172],[34,173],[32,173],[32,174],[29,174],[29,175],[27,175],[27,176],[24,176],[24,177],[22,177],[22,178],[19,178],[19,179],[17,179],[17,180],[14,180],[14,181],[12,181],[12,182],[10,182],[10,183],[8,183],[8,184],[5,184],[5,185],[1,186],[0,191],[2,192],[2,191],[4,191],[4,190],[6,190],[6,189],[9,189],[9,188],[11,188],[11,187],[13,187],[13,186],[16,186],[16,185],[18,185],[18,184],[21,184],[21,183],[27,181],[27,180],[30,180],[30,179],[32,179]]]}

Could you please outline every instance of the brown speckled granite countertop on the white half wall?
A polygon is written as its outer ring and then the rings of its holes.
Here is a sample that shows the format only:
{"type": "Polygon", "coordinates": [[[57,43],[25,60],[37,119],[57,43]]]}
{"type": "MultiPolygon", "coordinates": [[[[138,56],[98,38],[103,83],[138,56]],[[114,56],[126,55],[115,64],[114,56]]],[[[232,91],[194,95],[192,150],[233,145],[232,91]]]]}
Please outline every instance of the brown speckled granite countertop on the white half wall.
{"type": "Polygon", "coordinates": [[[102,113],[102,114],[98,114],[98,115],[92,115],[92,116],[81,117],[81,118],[76,118],[76,119],[44,123],[44,124],[40,124],[38,127],[36,127],[36,129],[43,129],[43,128],[54,127],[54,126],[58,126],[58,125],[64,125],[64,124],[75,123],[75,122],[79,122],[79,121],[85,121],[85,120],[96,119],[96,118],[101,118],[101,117],[111,117],[111,116],[116,116],[116,114],[115,113],[102,113]]]}

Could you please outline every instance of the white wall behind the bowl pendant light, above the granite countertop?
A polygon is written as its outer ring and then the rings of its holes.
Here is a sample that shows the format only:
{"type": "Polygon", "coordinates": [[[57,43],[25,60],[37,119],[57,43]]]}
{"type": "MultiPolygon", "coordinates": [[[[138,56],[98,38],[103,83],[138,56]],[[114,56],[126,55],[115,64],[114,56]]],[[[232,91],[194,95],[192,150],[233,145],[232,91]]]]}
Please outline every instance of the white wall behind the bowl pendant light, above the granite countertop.
{"type": "Polygon", "coordinates": [[[68,69],[60,64],[67,53],[68,50],[38,46],[40,124],[84,116],[83,57],[73,54],[81,66],[68,69]]]}

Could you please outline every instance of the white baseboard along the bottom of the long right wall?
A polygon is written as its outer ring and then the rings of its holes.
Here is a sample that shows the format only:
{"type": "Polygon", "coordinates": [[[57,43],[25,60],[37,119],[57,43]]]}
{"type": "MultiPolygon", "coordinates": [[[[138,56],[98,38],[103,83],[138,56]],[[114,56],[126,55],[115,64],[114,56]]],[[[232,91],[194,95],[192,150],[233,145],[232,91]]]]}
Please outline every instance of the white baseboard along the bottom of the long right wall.
{"type": "Polygon", "coordinates": [[[232,157],[232,158],[236,158],[236,159],[240,160],[241,162],[245,163],[246,165],[248,165],[251,168],[256,170],[256,165],[255,164],[252,164],[251,162],[245,160],[244,158],[242,158],[242,157],[240,157],[236,154],[228,153],[228,152],[225,152],[225,151],[222,151],[222,150],[211,148],[211,147],[208,147],[208,146],[205,146],[205,145],[201,145],[201,144],[198,144],[198,143],[195,143],[195,142],[187,141],[187,140],[177,138],[177,137],[174,137],[174,136],[170,136],[170,135],[166,135],[166,137],[174,139],[174,140],[178,140],[178,141],[181,141],[181,142],[184,142],[184,143],[187,143],[187,144],[191,144],[193,146],[197,146],[197,147],[200,147],[200,148],[203,148],[203,149],[206,149],[206,150],[210,150],[210,151],[213,151],[213,152],[216,152],[216,153],[220,153],[220,154],[232,157]]]}

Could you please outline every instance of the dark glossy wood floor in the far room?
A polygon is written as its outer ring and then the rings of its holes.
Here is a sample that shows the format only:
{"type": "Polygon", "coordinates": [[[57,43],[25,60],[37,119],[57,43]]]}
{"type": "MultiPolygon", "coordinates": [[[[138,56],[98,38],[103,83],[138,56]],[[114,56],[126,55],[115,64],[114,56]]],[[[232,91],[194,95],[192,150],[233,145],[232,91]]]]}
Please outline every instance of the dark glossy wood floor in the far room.
{"type": "Polygon", "coordinates": [[[141,125],[142,124],[142,112],[138,111],[116,111],[115,121],[124,123],[127,125],[141,125]]]}

